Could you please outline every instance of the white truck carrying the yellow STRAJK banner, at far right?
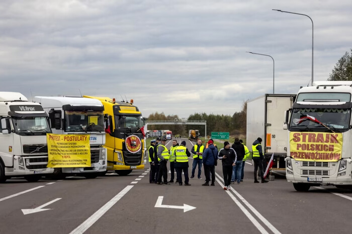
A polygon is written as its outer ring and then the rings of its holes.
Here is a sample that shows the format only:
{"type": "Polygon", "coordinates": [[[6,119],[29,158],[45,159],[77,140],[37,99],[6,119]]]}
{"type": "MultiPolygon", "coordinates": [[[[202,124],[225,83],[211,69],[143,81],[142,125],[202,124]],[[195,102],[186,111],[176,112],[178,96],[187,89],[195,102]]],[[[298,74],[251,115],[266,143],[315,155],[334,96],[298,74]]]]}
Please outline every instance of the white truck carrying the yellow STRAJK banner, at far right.
{"type": "Polygon", "coordinates": [[[352,187],[351,96],[352,81],[316,81],[298,91],[284,124],[286,178],[297,191],[352,187]]]}

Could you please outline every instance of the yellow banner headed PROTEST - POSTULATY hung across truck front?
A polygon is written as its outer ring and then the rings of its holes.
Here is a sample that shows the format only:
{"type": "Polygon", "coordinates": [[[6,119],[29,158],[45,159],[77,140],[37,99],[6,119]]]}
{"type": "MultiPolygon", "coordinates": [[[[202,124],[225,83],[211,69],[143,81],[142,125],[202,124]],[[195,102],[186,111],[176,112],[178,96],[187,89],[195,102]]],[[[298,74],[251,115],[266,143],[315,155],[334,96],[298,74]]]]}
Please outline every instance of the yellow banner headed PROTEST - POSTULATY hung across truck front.
{"type": "Polygon", "coordinates": [[[90,135],[46,134],[47,167],[90,167],[90,135]]]}

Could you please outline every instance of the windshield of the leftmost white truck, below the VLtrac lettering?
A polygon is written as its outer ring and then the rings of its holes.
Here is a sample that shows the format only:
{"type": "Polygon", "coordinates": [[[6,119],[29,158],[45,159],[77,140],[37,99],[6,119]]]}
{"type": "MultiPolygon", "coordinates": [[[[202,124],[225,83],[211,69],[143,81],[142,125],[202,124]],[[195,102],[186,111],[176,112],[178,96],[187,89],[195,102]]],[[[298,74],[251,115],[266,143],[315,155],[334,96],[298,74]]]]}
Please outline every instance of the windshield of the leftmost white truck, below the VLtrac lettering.
{"type": "Polygon", "coordinates": [[[13,117],[15,133],[19,135],[46,135],[51,133],[47,117],[13,117]]]}

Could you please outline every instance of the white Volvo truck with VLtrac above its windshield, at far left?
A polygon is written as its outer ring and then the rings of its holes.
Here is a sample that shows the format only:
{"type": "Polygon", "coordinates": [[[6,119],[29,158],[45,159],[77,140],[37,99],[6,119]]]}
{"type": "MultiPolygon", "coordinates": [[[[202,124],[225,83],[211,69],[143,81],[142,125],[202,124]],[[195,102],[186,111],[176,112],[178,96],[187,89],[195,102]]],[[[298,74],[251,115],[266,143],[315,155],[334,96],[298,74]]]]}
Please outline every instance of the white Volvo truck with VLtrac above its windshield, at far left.
{"type": "Polygon", "coordinates": [[[0,182],[11,177],[38,181],[47,168],[48,115],[21,93],[0,92],[0,182]]]}

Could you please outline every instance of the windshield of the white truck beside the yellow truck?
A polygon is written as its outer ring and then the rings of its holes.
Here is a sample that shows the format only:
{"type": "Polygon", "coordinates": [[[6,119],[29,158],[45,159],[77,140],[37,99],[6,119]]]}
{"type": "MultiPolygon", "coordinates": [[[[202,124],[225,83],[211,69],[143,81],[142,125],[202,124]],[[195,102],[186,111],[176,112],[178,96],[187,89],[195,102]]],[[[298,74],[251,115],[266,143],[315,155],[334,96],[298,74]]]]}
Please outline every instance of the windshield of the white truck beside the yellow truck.
{"type": "Polygon", "coordinates": [[[104,131],[103,111],[65,111],[65,131],[104,131]]]}

